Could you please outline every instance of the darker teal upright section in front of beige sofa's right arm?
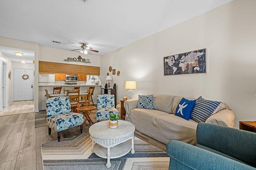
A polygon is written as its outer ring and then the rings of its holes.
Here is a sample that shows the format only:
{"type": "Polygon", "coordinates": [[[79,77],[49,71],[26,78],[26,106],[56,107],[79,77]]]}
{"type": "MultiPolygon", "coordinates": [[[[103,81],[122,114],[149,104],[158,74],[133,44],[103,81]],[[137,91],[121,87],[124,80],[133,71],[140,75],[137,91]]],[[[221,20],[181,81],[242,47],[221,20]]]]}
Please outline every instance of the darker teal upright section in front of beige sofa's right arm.
{"type": "Polygon", "coordinates": [[[240,129],[210,123],[198,123],[196,128],[196,143],[256,167],[254,141],[256,133],[240,129]]]}

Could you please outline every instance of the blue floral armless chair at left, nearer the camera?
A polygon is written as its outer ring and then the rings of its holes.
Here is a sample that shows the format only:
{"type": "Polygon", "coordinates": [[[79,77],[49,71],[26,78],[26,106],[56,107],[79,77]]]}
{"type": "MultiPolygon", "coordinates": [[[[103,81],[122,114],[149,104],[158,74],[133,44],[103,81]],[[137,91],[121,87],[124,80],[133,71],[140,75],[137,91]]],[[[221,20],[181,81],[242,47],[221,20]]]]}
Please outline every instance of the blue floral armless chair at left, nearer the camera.
{"type": "Polygon", "coordinates": [[[69,97],[47,98],[46,102],[46,121],[48,133],[54,129],[58,132],[58,141],[60,141],[60,131],[80,125],[80,131],[83,131],[84,115],[71,112],[69,97]]]}

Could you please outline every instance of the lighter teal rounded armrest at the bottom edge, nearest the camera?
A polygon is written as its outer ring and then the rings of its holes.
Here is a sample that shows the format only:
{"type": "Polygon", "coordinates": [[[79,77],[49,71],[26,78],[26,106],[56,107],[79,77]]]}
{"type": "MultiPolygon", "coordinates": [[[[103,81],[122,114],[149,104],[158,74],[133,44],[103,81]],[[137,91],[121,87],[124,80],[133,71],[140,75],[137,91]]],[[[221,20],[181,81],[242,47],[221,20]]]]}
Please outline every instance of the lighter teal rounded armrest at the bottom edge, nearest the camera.
{"type": "Polygon", "coordinates": [[[171,157],[169,170],[256,170],[252,166],[181,141],[170,141],[166,150],[171,157]]]}

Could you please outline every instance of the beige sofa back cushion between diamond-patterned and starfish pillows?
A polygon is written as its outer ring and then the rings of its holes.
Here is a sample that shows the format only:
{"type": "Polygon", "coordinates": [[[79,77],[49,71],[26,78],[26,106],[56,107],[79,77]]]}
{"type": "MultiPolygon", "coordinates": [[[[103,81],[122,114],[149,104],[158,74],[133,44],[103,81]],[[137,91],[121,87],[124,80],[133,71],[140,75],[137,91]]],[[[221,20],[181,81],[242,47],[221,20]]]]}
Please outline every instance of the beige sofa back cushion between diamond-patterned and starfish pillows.
{"type": "Polygon", "coordinates": [[[154,94],[154,109],[164,111],[166,113],[171,113],[173,98],[174,96],[171,95],[154,94]]]}

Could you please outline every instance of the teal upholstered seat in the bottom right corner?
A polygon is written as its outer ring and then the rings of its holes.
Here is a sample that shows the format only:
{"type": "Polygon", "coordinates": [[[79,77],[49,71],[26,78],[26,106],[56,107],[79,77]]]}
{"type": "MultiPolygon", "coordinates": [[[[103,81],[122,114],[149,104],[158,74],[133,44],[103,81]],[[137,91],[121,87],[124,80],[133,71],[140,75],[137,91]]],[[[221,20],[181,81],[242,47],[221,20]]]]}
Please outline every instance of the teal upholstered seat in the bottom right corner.
{"type": "Polygon", "coordinates": [[[169,170],[256,170],[256,133],[198,123],[196,143],[170,141],[169,170]]]}

